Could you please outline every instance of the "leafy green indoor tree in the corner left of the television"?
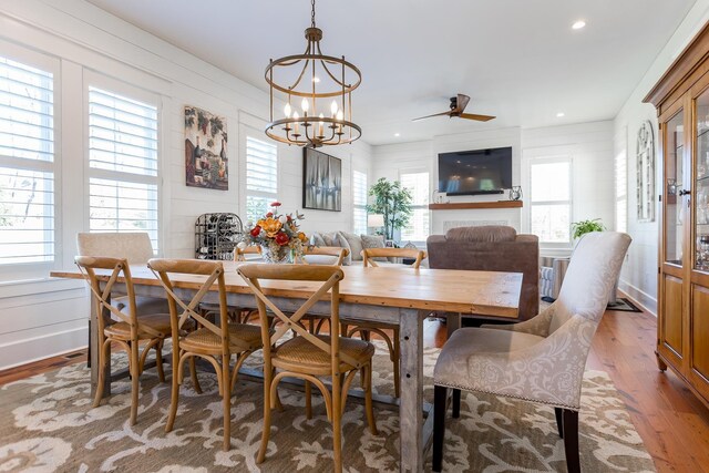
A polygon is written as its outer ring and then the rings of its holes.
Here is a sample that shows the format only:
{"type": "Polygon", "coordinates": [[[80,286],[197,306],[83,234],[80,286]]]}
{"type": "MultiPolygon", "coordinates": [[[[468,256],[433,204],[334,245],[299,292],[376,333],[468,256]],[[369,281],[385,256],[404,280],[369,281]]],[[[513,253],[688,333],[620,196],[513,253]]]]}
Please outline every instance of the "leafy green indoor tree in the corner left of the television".
{"type": "Polygon", "coordinates": [[[381,177],[371,186],[369,195],[374,197],[374,202],[367,206],[367,212],[383,215],[384,238],[393,239],[394,230],[407,225],[411,218],[411,192],[399,181],[381,177]]]}

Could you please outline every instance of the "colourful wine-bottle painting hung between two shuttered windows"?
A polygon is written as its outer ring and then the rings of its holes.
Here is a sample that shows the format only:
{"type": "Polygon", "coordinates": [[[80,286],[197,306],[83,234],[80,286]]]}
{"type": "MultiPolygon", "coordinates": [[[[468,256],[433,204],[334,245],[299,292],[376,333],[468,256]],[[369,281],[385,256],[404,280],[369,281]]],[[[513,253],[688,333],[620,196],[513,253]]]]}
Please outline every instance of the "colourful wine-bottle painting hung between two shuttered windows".
{"type": "Polygon", "coordinates": [[[229,189],[226,119],[185,106],[185,169],[189,187],[229,189]]]}

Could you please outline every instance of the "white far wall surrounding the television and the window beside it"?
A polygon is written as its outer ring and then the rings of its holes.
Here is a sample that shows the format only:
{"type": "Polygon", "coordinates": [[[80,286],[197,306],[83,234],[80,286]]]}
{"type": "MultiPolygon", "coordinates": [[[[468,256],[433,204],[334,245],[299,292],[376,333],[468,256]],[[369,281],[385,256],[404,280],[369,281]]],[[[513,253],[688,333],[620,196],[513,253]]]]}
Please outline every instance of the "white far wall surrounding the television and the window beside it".
{"type": "MultiPolygon", "coordinates": [[[[522,130],[500,128],[485,132],[435,136],[430,141],[373,146],[373,177],[395,179],[408,169],[427,169],[431,173],[431,189],[438,183],[438,154],[512,146],[512,184],[522,185],[523,193],[530,184],[523,172],[527,160],[566,154],[572,157],[573,208],[572,220],[600,218],[613,226],[613,122],[593,122],[576,125],[522,130]]],[[[525,194],[528,198],[528,194],[525,194]]],[[[458,196],[451,202],[484,202],[506,199],[506,195],[458,196]]],[[[526,204],[526,199],[523,198],[526,204]]],[[[465,209],[431,212],[433,234],[442,234],[444,223],[506,220],[517,232],[530,232],[528,205],[522,209],[465,209]]],[[[546,254],[568,254],[569,247],[544,248],[546,254]]]]}

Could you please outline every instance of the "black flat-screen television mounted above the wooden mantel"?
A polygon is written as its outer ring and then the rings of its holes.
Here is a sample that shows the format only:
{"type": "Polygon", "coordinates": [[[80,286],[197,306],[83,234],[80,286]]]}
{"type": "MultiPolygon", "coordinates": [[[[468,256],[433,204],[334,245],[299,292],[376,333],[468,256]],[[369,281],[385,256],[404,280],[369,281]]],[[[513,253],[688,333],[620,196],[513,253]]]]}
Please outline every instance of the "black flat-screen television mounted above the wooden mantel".
{"type": "Polygon", "coordinates": [[[512,147],[439,154],[439,192],[502,194],[512,188],[512,147]]]}

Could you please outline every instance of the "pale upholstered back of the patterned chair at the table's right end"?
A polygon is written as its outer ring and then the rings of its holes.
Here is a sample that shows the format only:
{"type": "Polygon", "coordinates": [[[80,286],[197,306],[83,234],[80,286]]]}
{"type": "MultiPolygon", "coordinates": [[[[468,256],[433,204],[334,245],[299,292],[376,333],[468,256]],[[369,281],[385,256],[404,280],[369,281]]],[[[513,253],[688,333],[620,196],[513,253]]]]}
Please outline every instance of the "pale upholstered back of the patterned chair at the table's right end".
{"type": "Polygon", "coordinates": [[[552,305],[549,333],[576,313],[600,321],[630,241],[630,236],[618,232],[594,232],[580,238],[552,305]]]}

